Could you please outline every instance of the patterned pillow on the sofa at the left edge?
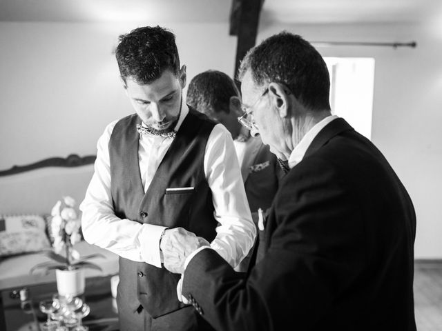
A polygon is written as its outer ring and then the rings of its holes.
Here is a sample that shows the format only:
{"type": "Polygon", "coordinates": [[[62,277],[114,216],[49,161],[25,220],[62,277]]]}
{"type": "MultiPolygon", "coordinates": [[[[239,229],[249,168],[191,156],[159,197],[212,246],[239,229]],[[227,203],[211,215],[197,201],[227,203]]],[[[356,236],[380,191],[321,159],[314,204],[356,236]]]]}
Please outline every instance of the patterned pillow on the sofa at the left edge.
{"type": "Polygon", "coordinates": [[[46,249],[50,249],[50,243],[43,217],[0,216],[0,257],[46,249]]]}

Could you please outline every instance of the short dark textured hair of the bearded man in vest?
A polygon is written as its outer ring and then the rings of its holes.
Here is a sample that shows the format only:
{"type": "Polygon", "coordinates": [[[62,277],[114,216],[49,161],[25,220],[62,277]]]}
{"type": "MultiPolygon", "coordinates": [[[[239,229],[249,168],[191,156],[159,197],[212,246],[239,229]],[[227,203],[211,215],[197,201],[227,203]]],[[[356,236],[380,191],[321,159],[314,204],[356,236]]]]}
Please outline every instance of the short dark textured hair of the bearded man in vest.
{"type": "Polygon", "coordinates": [[[144,26],[120,35],[115,57],[124,83],[131,77],[147,84],[160,78],[166,69],[175,76],[180,71],[175,34],[160,26],[144,26]]]}

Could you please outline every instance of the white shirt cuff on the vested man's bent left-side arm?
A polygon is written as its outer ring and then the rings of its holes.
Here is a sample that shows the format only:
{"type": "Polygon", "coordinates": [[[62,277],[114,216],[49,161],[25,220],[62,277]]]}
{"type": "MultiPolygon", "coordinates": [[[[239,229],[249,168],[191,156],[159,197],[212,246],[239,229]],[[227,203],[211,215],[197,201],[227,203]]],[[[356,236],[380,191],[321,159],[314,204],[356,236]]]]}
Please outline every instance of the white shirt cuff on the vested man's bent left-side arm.
{"type": "Polygon", "coordinates": [[[143,224],[138,235],[142,260],[158,268],[161,268],[160,238],[164,229],[165,226],[143,224]]]}

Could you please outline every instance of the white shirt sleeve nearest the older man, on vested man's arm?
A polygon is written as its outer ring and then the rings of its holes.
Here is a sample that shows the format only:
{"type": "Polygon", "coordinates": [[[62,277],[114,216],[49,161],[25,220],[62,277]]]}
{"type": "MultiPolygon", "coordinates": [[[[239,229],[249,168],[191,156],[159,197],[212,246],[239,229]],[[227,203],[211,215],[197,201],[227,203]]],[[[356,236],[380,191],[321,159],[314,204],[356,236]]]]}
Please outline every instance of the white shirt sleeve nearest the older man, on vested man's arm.
{"type": "Polygon", "coordinates": [[[220,223],[211,248],[236,267],[255,241],[256,226],[251,219],[231,134],[220,124],[213,128],[207,141],[204,172],[212,191],[214,216],[220,223]]]}

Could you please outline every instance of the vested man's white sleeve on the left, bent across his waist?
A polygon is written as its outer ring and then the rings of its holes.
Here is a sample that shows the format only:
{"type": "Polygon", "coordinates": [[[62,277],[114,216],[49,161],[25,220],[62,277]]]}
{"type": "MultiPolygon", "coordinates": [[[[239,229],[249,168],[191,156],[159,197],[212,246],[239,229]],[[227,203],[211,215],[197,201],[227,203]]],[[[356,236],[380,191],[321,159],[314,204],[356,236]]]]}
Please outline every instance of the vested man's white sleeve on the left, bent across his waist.
{"type": "Polygon", "coordinates": [[[84,239],[126,259],[161,268],[159,243],[164,227],[119,219],[113,210],[108,143],[116,123],[106,127],[97,143],[95,171],[80,205],[84,239]]]}

